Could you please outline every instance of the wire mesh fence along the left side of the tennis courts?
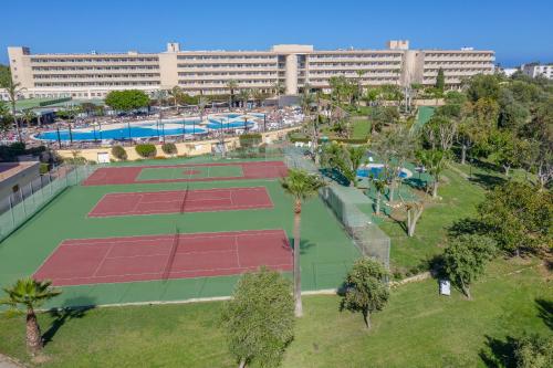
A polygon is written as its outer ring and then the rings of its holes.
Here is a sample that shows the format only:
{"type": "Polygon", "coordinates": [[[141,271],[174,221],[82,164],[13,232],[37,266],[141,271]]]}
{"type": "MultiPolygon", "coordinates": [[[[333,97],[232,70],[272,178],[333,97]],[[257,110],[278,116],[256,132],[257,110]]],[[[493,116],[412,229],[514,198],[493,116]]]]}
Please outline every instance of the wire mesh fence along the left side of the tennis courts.
{"type": "Polygon", "coordinates": [[[0,198],[0,242],[25,223],[34,213],[50,203],[65,188],[80,185],[98,165],[60,165],[19,186],[19,189],[0,198]]]}

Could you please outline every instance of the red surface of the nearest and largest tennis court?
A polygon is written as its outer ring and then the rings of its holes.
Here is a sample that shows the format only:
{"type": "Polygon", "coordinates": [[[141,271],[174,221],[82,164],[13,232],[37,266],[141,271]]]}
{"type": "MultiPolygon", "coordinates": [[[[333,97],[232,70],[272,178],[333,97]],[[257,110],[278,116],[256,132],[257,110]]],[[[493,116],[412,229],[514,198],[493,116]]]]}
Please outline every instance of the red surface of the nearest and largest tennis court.
{"type": "Polygon", "coordinates": [[[261,265],[292,270],[283,230],[66,240],[34,277],[66,286],[233,275],[261,265]]]}

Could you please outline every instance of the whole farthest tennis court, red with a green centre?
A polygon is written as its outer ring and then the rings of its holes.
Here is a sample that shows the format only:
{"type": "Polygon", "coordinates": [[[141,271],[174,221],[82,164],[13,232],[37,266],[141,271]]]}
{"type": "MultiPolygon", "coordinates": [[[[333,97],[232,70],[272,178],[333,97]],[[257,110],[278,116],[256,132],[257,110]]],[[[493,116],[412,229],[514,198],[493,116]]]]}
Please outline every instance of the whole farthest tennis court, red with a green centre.
{"type": "Polygon", "coordinates": [[[84,186],[276,179],[286,176],[282,161],[213,162],[198,165],[124,166],[97,169],[84,186]]]}

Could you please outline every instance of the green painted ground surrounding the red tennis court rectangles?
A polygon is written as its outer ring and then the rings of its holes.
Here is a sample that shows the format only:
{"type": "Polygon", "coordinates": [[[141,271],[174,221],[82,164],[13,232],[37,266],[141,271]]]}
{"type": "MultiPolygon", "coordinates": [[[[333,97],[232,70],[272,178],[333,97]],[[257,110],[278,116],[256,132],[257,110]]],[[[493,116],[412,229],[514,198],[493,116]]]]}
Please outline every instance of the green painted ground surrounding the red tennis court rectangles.
{"type": "MultiPolygon", "coordinates": [[[[168,165],[171,162],[168,161],[168,165]]],[[[210,167],[212,168],[212,167],[210,167]]],[[[220,169],[222,167],[218,167],[220,169]]],[[[160,168],[149,167],[154,172],[160,168]]],[[[186,167],[179,170],[205,167],[186,167]]],[[[221,176],[239,175],[239,165],[225,167],[221,176]]],[[[205,172],[205,171],[202,171],[205,172]]],[[[150,174],[147,174],[150,175],[150,174]]],[[[166,174],[167,175],[167,174],[166,174]]],[[[169,175],[173,175],[169,174],[169,175]]],[[[157,179],[157,178],[156,178],[157,179]]],[[[282,229],[292,243],[293,201],[278,179],[136,182],[114,186],[79,186],[62,192],[24,225],[0,243],[0,286],[32,275],[69,239],[96,239],[180,233],[282,229]],[[88,218],[87,213],[111,192],[264,187],[273,207],[220,212],[88,218]]],[[[260,244],[262,245],[262,244],[260,244]]],[[[336,288],[359,253],[332,212],[319,199],[302,209],[301,269],[304,291],[336,288]]],[[[290,273],[284,273],[291,278],[290,273]]],[[[211,276],[62,287],[63,293],[44,307],[182,301],[230,295],[239,276],[211,276]]],[[[0,298],[3,297],[0,291],[0,298]]]]}

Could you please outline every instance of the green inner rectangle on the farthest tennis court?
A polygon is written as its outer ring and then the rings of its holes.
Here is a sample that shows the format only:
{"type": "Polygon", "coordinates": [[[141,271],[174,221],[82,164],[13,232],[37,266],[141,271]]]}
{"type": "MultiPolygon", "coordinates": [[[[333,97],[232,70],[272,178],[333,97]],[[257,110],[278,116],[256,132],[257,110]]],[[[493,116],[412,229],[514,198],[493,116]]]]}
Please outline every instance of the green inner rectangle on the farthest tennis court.
{"type": "Polygon", "coordinates": [[[192,166],[192,167],[160,167],[145,168],[136,180],[173,180],[198,178],[240,178],[243,177],[242,167],[226,166],[192,166]]]}

